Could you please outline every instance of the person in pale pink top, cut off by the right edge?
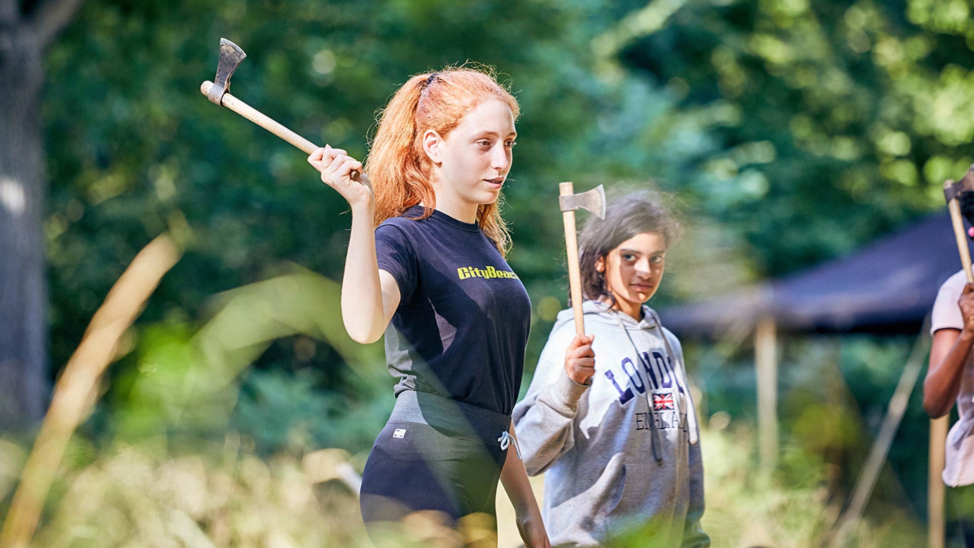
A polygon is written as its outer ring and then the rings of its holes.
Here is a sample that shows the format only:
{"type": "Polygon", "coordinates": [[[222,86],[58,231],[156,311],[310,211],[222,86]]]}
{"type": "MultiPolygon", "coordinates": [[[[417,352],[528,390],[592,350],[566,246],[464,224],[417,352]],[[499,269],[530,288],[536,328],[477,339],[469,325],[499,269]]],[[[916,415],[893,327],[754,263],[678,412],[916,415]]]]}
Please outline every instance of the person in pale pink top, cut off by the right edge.
{"type": "MultiPolygon", "coordinates": [[[[961,212],[974,224],[974,192],[960,195],[961,212]]],[[[968,235],[974,238],[974,228],[968,235]]],[[[930,313],[930,365],[923,381],[923,409],[931,418],[951,412],[959,417],[947,435],[944,483],[950,489],[952,513],[974,547],[974,284],[961,269],[940,286],[930,313]]]]}

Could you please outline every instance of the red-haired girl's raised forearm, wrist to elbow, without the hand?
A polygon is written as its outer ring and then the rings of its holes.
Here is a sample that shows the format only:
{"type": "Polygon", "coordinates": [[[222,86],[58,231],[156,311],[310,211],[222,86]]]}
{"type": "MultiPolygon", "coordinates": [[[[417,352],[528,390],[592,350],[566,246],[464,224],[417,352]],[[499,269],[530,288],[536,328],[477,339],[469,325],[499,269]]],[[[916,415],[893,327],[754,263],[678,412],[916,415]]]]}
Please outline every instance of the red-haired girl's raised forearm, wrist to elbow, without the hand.
{"type": "Polygon", "coordinates": [[[342,279],[342,321],[357,342],[374,342],[384,325],[382,285],[375,254],[372,205],[352,212],[352,234],[342,279]]]}

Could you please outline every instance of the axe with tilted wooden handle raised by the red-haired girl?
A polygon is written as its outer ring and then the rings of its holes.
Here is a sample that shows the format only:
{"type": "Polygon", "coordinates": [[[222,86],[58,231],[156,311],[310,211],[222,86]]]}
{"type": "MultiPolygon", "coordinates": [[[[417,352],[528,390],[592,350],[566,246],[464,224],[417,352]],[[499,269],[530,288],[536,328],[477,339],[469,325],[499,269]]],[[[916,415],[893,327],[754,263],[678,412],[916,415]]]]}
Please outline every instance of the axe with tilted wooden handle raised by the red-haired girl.
{"type": "MultiPolygon", "coordinates": [[[[226,38],[220,38],[220,59],[216,63],[215,82],[206,80],[200,86],[200,92],[214,104],[226,106],[261,128],[297,146],[305,154],[314,152],[318,148],[317,144],[281,126],[281,124],[258,111],[256,108],[228,93],[227,90],[230,89],[230,77],[245,57],[246,54],[244,54],[244,50],[240,46],[226,38]]],[[[350,176],[352,180],[358,180],[358,172],[352,172],[350,176]]]]}

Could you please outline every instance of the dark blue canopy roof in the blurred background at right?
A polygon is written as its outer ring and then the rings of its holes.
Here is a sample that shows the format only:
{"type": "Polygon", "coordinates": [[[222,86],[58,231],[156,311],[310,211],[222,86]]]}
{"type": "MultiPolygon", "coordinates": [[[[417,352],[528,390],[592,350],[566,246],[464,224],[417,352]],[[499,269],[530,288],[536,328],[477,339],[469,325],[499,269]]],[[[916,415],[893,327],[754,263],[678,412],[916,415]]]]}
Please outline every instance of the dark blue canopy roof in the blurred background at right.
{"type": "Polygon", "coordinates": [[[719,336],[768,315],[787,332],[917,333],[940,285],[960,268],[945,211],[856,254],[660,316],[680,337],[719,336]]]}

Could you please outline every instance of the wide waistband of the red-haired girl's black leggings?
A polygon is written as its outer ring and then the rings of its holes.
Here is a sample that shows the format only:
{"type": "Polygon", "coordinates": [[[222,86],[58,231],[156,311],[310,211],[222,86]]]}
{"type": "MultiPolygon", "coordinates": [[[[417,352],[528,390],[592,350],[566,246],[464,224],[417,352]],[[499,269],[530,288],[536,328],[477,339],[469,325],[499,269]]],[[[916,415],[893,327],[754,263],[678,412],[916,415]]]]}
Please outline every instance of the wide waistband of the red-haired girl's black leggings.
{"type": "Polygon", "coordinates": [[[399,393],[389,419],[429,424],[488,442],[496,442],[510,429],[510,415],[415,390],[399,393]]]}

